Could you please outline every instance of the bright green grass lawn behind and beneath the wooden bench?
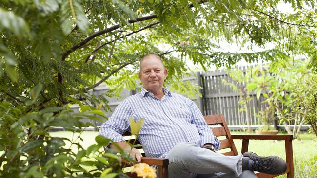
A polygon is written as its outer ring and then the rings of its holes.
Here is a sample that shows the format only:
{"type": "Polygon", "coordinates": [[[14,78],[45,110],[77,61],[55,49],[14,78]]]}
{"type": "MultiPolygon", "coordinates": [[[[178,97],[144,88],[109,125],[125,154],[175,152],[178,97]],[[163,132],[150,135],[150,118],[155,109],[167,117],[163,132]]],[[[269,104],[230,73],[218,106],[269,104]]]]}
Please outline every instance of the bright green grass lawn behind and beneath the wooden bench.
{"type": "MultiPolygon", "coordinates": [[[[69,139],[76,139],[76,135],[73,136],[71,132],[59,131],[50,133],[54,137],[67,137],[69,139]]],[[[231,134],[245,134],[244,132],[231,132],[231,134]]],[[[78,135],[78,134],[77,134],[78,135]]],[[[98,132],[84,131],[81,134],[83,141],[78,140],[84,148],[95,144],[95,137],[98,132]]],[[[219,140],[223,138],[219,137],[219,140]]],[[[241,140],[234,140],[238,152],[241,151],[241,140]]],[[[70,144],[66,143],[66,147],[70,144]]],[[[72,149],[76,149],[75,146],[72,149]]],[[[261,156],[276,155],[285,160],[285,144],[284,141],[263,141],[263,140],[250,140],[249,151],[255,152],[261,156]]],[[[224,150],[225,152],[226,150],[224,150]]],[[[302,133],[296,140],[293,140],[293,154],[294,154],[294,164],[295,164],[295,178],[317,178],[317,139],[315,135],[302,133]],[[309,171],[313,171],[310,175],[309,171]],[[304,175],[302,172],[305,172],[304,175]],[[306,173],[308,172],[308,173],[306,173]],[[308,175],[306,175],[308,174],[308,175]]],[[[286,176],[280,176],[283,178],[286,176]]]]}

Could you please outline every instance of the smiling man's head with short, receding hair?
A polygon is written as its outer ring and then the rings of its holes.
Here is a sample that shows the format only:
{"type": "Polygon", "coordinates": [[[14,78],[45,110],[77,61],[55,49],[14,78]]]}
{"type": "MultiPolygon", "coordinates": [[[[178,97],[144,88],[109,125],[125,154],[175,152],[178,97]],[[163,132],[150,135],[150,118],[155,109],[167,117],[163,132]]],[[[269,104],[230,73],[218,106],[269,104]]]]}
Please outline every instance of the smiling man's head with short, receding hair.
{"type": "Polygon", "coordinates": [[[139,78],[147,91],[154,94],[162,91],[166,76],[167,69],[157,55],[149,54],[141,59],[139,78]]]}

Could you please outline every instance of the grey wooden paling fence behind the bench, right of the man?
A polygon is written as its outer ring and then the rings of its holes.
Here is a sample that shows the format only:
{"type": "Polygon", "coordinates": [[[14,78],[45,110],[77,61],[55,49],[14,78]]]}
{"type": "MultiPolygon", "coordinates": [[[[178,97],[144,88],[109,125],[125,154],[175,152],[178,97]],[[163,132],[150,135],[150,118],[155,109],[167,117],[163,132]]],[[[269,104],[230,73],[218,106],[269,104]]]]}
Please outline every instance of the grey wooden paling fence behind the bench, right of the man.
{"type": "MultiPolygon", "coordinates": [[[[239,70],[245,71],[245,67],[241,67],[239,70]]],[[[247,124],[245,109],[239,112],[242,109],[241,105],[238,104],[240,93],[233,91],[231,87],[222,83],[222,80],[233,83],[228,72],[230,71],[216,70],[198,73],[198,77],[201,80],[200,86],[203,88],[203,97],[200,98],[203,107],[200,109],[204,115],[224,114],[228,125],[242,128],[247,124]]],[[[252,127],[258,127],[261,123],[257,119],[256,114],[265,108],[265,104],[262,103],[264,97],[260,96],[258,100],[256,94],[251,93],[250,98],[248,104],[251,125],[252,127]]]]}

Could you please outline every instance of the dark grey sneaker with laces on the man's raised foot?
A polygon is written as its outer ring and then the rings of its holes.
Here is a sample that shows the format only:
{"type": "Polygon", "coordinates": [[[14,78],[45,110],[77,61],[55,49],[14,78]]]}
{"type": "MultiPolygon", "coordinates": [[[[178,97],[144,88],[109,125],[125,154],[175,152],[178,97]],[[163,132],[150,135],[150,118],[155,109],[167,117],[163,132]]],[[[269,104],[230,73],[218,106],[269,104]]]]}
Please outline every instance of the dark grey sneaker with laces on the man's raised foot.
{"type": "Polygon", "coordinates": [[[249,157],[252,162],[249,166],[251,171],[258,171],[267,174],[281,174],[286,171],[287,165],[286,162],[277,157],[261,157],[253,152],[243,153],[244,157],[249,157]]]}

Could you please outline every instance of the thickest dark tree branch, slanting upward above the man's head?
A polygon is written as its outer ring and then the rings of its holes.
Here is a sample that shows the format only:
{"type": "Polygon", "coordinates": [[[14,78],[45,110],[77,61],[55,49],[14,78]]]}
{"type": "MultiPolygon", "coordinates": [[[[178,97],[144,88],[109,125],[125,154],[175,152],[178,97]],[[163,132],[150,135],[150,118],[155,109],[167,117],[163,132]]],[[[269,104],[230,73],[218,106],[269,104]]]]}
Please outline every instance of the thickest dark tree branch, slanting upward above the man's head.
{"type": "MultiPolygon", "coordinates": [[[[135,22],[140,22],[140,21],[146,21],[146,20],[150,20],[153,18],[157,18],[158,15],[151,15],[151,16],[146,16],[146,17],[141,17],[141,18],[137,18],[136,20],[128,20],[129,23],[135,23],[135,22]]],[[[112,26],[110,28],[104,29],[104,30],[100,30],[90,36],[88,36],[86,39],[80,41],[79,44],[72,46],[69,50],[67,50],[66,52],[64,52],[61,57],[62,57],[62,61],[65,61],[66,57],[70,54],[73,53],[75,50],[79,49],[81,46],[85,45],[86,43],[88,43],[90,40],[94,39],[97,36],[112,32],[114,30],[117,30],[121,27],[120,24],[112,26]]]]}

